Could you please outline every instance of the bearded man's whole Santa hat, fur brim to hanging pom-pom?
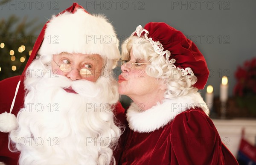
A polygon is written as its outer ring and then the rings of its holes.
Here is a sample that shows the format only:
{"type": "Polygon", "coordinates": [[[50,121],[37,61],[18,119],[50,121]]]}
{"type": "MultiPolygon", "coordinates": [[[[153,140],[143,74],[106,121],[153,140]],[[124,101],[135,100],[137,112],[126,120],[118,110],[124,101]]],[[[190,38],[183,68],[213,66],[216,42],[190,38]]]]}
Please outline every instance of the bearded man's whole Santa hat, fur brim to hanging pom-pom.
{"type": "MultiPolygon", "coordinates": [[[[10,132],[17,127],[12,109],[20,82],[24,80],[26,69],[37,55],[54,55],[61,52],[99,54],[111,60],[119,59],[119,40],[111,23],[102,15],[91,15],[82,6],[72,6],[52,16],[44,25],[35,41],[32,53],[17,83],[10,113],[0,115],[0,131],[10,132]]],[[[114,63],[113,63],[114,64],[114,63]]]]}

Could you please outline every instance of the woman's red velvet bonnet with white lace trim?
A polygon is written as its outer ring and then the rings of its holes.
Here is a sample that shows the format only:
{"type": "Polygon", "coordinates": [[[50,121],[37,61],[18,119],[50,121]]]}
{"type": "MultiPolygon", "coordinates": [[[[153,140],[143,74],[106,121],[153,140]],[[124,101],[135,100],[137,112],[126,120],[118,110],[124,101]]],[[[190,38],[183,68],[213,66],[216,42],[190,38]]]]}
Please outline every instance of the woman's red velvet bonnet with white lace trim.
{"type": "Polygon", "coordinates": [[[194,84],[198,89],[204,89],[209,76],[206,61],[195,43],[190,41],[182,32],[166,23],[150,22],[137,26],[132,35],[145,37],[154,51],[166,58],[166,63],[180,70],[182,76],[195,75],[198,81],[194,84]]]}

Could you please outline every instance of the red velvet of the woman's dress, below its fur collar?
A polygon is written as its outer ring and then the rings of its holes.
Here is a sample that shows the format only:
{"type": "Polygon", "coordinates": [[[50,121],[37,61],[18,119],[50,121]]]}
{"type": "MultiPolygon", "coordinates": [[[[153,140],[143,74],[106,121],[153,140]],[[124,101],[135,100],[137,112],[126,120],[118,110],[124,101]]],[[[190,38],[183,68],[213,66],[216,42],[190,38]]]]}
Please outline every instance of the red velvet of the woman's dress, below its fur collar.
{"type": "Polygon", "coordinates": [[[238,165],[201,110],[180,113],[150,133],[128,130],[121,165],[238,165]]]}

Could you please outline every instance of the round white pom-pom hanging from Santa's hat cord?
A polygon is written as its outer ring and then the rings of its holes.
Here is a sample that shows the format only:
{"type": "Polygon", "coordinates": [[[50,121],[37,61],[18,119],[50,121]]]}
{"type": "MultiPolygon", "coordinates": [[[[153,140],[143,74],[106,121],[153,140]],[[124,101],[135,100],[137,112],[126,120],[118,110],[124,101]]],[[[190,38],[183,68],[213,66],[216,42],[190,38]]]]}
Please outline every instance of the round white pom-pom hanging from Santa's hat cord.
{"type": "Polygon", "coordinates": [[[0,131],[11,132],[17,127],[16,116],[12,113],[1,113],[0,114],[0,131]]]}

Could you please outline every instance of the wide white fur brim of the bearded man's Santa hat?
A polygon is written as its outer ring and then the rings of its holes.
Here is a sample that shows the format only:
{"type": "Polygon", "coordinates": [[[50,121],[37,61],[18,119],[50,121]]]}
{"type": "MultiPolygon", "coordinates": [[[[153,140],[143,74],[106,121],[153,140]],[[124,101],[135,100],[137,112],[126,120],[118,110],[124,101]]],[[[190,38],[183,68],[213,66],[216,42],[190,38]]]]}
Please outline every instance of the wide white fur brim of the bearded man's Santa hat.
{"type": "Polygon", "coordinates": [[[39,55],[61,52],[99,54],[119,59],[119,40],[111,23],[102,15],[91,15],[78,9],[53,16],[47,23],[39,55]]]}

